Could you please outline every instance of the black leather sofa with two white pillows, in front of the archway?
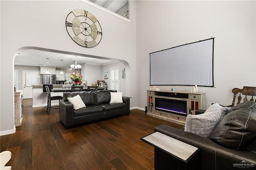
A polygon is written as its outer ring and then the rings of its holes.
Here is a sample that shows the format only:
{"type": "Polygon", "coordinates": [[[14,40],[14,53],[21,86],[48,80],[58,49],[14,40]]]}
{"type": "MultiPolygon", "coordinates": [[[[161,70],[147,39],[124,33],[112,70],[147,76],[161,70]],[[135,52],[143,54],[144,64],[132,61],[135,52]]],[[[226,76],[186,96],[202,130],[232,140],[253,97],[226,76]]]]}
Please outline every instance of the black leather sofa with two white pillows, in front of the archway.
{"type": "Polygon", "coordinates": [[[110,92],[112,90],[101,91],[79,91],[65,92],[63,100],[60,100],[60,121],[66,128],[74,125],[90,123],[119,115],[129,115],[130,113],[130,97],[122,97],[123,103],[110,104],[110,92]],[[74,110],[73,104],[67,97],[80,95],[86,107],[74,110]]]}

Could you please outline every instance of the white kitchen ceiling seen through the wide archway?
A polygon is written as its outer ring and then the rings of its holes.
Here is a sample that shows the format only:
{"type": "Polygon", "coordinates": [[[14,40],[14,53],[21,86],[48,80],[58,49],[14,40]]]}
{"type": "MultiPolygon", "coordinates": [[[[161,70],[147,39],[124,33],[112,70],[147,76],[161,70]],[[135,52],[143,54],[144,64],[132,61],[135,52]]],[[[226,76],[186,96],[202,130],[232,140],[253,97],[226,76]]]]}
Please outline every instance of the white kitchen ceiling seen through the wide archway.
{"type": "Polygon", "coordinates": [[[69,68],[71,64],[74,64],[74,61],[77,61],[77,64],[82,65],[83,63],[91,64],[91,65],[106,65],[116,61],[108,60],[108,59],[98,59],[93,58],[91,56],[77,56],[63,54],[63,53],[55,53],[49,51],[40,51],[35,49],[26,49],[19,52],[20,54],[15,57],[14,65],[26,65],[26,66],[47,66],[48,59],[48,67],[61,67],[61,59],[62,67],[69,68]]]}

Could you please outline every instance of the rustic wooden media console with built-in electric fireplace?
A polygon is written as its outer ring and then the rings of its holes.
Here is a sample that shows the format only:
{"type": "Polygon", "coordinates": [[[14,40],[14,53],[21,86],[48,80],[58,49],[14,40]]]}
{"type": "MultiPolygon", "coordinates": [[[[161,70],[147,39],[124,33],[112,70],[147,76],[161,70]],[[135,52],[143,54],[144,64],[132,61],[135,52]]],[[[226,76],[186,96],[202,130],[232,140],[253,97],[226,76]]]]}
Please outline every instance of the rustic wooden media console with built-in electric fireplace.
{"type": "Polygon", "coordinates": [[[205,109],[205,93],[148,90],[147,115],[185,125],[186,117],[205,109]]]}

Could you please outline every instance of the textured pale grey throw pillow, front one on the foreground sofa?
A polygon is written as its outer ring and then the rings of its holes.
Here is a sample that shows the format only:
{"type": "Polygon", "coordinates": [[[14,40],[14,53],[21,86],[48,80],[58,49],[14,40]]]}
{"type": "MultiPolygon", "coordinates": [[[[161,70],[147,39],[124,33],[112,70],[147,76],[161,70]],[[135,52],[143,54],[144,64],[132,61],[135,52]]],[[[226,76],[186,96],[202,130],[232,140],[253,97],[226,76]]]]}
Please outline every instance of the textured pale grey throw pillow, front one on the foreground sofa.
{"type": "Polygon", "coordinates": [[[184,131],[208,138],[220,119],[220,110],[203,113],[201,115],[188,115],[184,131]]]}

